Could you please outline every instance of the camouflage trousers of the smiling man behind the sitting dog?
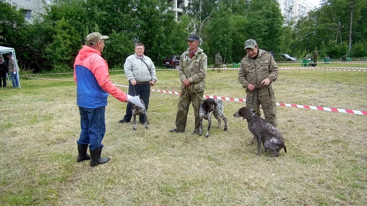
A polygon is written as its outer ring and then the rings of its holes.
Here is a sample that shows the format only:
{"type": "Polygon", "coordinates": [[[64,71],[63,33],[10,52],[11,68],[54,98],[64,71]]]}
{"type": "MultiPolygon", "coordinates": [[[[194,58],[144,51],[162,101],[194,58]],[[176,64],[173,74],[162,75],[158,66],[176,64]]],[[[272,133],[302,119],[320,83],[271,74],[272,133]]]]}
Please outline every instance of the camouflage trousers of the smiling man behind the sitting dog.
{"type": "MultiPolygon", "coordinates": [[[[252,108],[252,110],[255,112],[255,114],[257,114],[260,117],[261,113],[260,113],[259,105],[261,105],[262,111],[264,112],[265,120],[276,127],[277,124],[276,124],[275,95],[271,87],[269,87],[269,90],[270,90],[270,97],[269,97],[269,92],[267,88],[258,90],[258,92],[255,91],[254,107],[252,108]],[[257,93],[259,94],[258,98],[257,98],[257,93]],[[270,100],[270,103],[269,103],[269,100],[270,100]]],[[[249,91],[248,89],[246,89],[246,94],[247,94],[246,106],[248,108],[251,107],[253,93],[254,93],[253,91],[249,91]]]]}

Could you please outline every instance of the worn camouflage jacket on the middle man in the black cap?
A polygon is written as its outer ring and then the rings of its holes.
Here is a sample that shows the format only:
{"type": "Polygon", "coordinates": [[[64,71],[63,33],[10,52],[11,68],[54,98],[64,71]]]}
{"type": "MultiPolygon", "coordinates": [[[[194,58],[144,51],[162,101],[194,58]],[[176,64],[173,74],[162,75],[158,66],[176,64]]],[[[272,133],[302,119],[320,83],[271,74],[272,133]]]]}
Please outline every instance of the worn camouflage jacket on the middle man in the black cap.
{"type": "Polygon", "coordinates": [[[182,91],[186,90],[187,93],[204,91],[207,64],[207,56],[204,54],[203,49],[197,47],[192,58],[190,58],[190,49],[183,52],[179,63],[178,76],[181,82],[189,79],[191,85],[185,88],[185,85],[181,83],[182,91]]]}

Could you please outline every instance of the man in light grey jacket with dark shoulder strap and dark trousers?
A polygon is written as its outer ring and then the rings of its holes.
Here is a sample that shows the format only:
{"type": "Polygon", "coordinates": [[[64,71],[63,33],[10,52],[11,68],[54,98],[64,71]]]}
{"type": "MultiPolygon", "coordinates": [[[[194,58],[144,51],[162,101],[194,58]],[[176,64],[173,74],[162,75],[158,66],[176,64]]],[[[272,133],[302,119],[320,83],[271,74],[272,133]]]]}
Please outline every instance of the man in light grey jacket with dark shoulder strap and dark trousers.
{"type": "MultiPolygon", "coordinates": [[[[156,68],[152,60],[144,55],[144,45],[142,43],[135,44],[135,54],[128,56],[124,64],[124,70],[127,80],[129,80],[128,94],[138,96],[143,100],[145,108],[148,111],[150,87],[156,81],[156,68]]],[[[131,103],[127,104],[126,115],[119,122],[130,122],[132,117],[131,103]]],[[[139,116],[141,124],[145,122],[144,115],[139,116]]]]}

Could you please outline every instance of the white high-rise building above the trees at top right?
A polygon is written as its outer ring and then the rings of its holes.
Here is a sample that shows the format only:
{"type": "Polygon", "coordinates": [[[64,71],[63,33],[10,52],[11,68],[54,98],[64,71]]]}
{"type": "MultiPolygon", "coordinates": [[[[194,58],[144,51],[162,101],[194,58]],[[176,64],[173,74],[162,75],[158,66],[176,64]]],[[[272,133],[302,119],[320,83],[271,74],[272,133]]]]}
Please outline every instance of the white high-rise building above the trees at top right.
{"type": "Polygon", "coordinates": [[[283,14],[284,25],[294,18],[307,16],[308,12],[316,7],[306,0],[278,0],[280,10],[283,14]]]}

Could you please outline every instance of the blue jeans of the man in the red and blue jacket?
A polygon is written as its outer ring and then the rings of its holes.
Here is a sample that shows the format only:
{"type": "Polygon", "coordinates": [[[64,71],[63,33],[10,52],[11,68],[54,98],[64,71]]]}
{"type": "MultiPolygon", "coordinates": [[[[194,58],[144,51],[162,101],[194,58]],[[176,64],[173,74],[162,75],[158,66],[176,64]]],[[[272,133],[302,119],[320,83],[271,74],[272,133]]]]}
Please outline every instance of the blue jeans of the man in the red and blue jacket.
{"type": "Polygon", "coordinates": [[[78,144],[89,144],[91,150],[103,147],[102,139],[106,132],[105,109],[105,106],[94,109],[79,107],[81,132],[78,144]]]}

